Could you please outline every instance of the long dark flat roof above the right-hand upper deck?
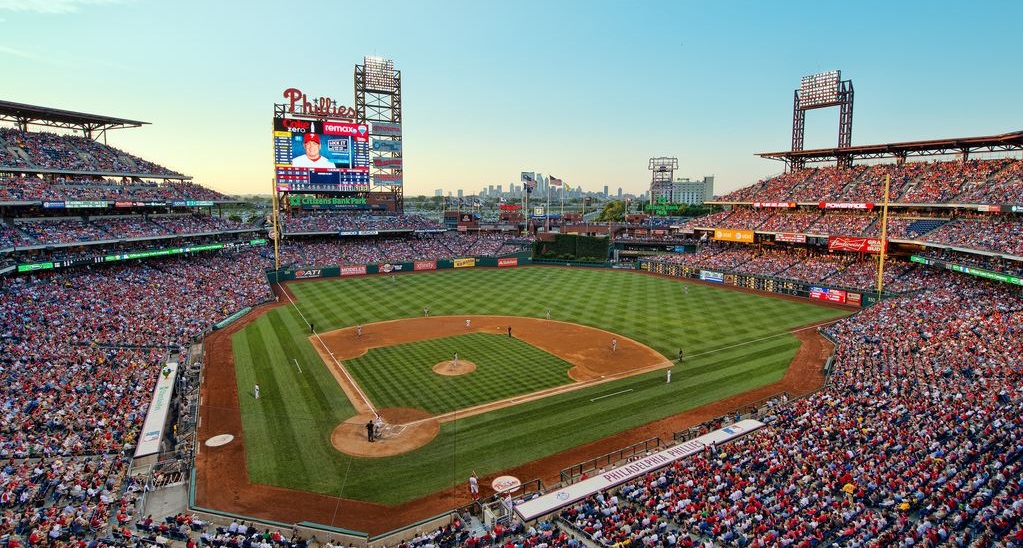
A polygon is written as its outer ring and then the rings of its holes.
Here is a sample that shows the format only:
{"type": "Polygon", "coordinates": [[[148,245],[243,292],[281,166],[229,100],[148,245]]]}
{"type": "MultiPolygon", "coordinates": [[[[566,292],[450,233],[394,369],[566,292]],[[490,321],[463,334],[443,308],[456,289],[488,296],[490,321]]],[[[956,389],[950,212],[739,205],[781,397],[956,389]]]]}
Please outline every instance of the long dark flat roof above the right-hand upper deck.
{"type": "Polygon", "coordinates": [[[816,148],[813,150],[789,150],[786,152],[761,152],[760,157],[780,159],[786,163],[809,163],[837,161],[839,157],[851,159],[906,156],[937,156],[971,152],[993,152],[1023,150],[1023,131],[990,135],[986,137],[964,137],[959,139],[934,139],[931,141],[906,141],[902,143],[869,144],[847,148],[816,148]]]}

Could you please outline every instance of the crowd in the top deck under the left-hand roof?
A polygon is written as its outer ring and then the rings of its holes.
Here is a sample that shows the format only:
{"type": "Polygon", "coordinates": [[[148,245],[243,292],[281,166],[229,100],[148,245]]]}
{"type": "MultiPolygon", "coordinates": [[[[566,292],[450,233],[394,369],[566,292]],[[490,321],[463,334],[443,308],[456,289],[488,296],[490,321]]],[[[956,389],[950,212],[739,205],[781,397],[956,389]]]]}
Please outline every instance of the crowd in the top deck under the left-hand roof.
{"type": "Polygon", "coordinates": [[[136,175],[181,175],[85,137],[25,132],[13,128],[0,128],[0,168],[2,167],[136,175]]]}

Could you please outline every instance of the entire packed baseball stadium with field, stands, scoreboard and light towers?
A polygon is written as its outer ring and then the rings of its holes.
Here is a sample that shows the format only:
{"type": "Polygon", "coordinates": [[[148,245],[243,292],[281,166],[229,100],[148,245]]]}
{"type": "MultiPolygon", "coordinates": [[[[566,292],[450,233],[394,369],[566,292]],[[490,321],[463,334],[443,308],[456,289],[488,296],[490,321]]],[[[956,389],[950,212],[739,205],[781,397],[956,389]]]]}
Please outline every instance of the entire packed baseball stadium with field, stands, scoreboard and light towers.
{"type": "Polygon", "coordinates": [[[353,86],[267,101],[264,206],[0,101],[4,545],[1023,545],[1023,132],[854,145],[835,71],[700,215],[429,212],[353,86]]]}

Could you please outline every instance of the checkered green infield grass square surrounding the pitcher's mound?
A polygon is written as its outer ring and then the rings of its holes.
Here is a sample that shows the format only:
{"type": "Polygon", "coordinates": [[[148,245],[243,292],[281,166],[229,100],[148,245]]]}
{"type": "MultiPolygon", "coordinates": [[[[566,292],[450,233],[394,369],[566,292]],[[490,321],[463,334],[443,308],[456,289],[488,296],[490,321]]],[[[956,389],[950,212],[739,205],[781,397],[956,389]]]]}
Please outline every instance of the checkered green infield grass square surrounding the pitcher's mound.
{"type": "Polygon", "coordinates": [[[346,360],[345,367],[377,408],[415,407],[441,415],[572,382],[572,364],[503,334],[472,333],[406,342],[346,360]],[[433,366],[458,352],[476,364],[468,375],[444,376],[433,366]]]}

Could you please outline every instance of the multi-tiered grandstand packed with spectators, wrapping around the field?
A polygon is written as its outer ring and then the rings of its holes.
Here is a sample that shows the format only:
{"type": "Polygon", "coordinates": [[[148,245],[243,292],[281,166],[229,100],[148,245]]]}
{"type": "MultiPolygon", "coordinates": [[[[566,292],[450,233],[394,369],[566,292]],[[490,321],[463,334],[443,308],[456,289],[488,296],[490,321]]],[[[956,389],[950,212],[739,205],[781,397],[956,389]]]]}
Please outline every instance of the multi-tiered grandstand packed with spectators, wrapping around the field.
{"type": "MultiPolygon", "coordinates": [[[[145,516],[167,476],[184,480],[192,465],[204,334],[280,294],[266,275],[267,228],[225,217],[239,201],[95,140],[141,122],[9,102],[0,120],[16,126],[0,130],[7,546],[199,537],[237,546],[254,533],[279,546],[313,534],[424,548],[1023,545],[1023,161],[904,162],[949,147],[1018,151],[1020,134],[857,147],[895,162],[793,171],[730,193],[718,202],[727,210],[700,219],[608,227],[623,252],[662,252],[637,262],[657,274],[861,305],[824,330],[836,345],[826,385],[747,410],[767,425],[755,433],[539,520],[516,519],[525,496],[497,497],[501,519],[485,519],[486,501],[429,507],[420,517],[441,515],[440,524],[401,523],[411,529],[372,539],[246,526],[202,508],[145,516]],[[82,136],[29,131],[37,123],[82,136]],[[881,235],[885,178],[878,294],[878,256],[865,240],[881,235]],[[840,238],[863,250],[836,248],[840,238]],[[173,405],[146,453],[145,410],[161,382],[173,405]]],[[[801,162],[835,153],[798,152],[801,162]]],[[[522,257],[528,243],[416,215],[292,214],[280,232],[292,274],[522,257]]],[[[693,426],[706,433],[733,420],[693,426]]]]}

